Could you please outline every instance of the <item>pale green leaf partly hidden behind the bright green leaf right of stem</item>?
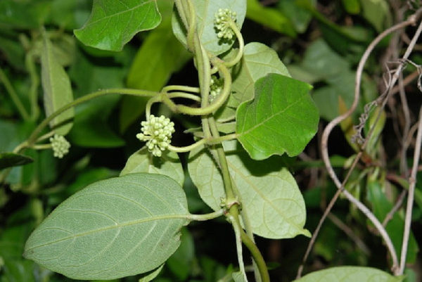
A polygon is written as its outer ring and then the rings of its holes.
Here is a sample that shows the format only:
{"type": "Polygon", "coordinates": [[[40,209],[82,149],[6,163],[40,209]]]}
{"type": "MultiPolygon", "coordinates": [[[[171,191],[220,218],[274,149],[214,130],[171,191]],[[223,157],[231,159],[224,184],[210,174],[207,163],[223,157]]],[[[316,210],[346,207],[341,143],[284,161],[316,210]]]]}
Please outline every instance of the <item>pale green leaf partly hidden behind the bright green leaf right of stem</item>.
{"type": "Polygon", "coordinates": [[[233,70],[234,81],[231,91],[234,93],[229,96],[227,107],[217,112],[219,120],[228,120],[236,115],[236,108],[244,101],[250,101],[254,97],[253,86],[255,82],[268,75],[269,73],[278,73],[290,77],[286,66],[281,62],[276,51],[268,46],[251,42],[245,45],[241,64],[233,70]]]}

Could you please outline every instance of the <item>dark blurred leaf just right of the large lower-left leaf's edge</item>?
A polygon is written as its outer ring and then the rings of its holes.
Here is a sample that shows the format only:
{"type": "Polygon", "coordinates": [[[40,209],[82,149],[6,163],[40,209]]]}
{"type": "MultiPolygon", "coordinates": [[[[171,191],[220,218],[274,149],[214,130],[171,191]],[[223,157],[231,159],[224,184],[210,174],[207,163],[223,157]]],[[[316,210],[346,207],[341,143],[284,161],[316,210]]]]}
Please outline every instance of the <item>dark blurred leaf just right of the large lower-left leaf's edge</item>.
{"type": "Polygon", "coordinates": [[[179,281],[186,281],[191,274],[195,245],[188,229],[181,229],[180,247],[167,259],[166,266],[172,271],[179,281]]]}

